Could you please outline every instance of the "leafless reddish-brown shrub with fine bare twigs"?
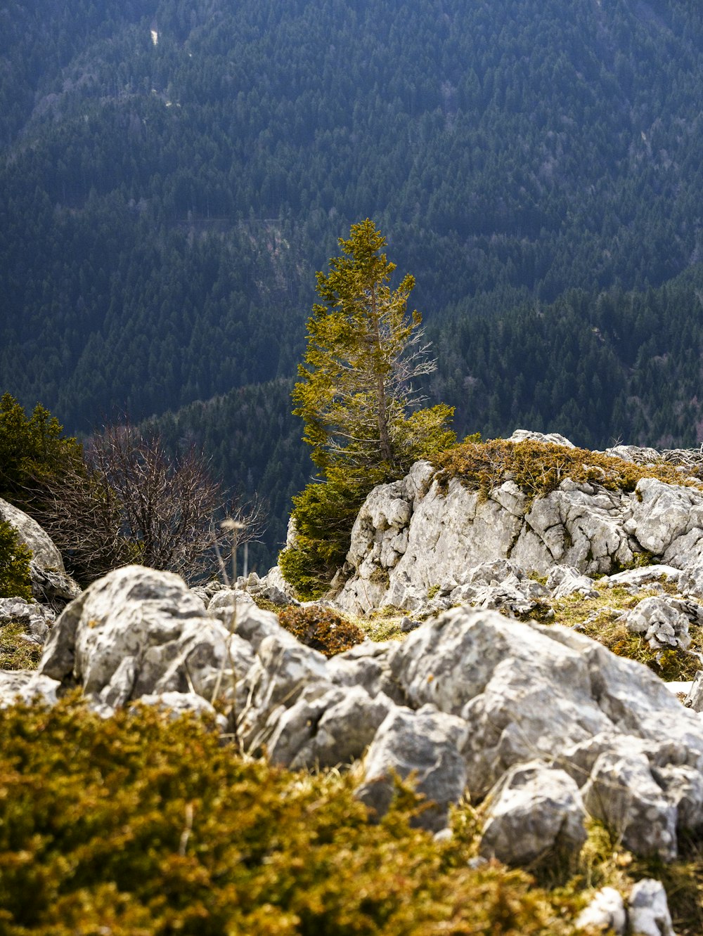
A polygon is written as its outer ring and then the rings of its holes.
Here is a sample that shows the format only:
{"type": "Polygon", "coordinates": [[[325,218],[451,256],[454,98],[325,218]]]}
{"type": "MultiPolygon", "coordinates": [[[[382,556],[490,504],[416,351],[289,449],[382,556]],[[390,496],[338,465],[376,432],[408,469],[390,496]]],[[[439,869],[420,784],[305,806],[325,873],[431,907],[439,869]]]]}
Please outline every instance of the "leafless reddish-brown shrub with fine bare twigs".
{"type": "Polygon", "coordinates": [[[215,568],[213,519],[226,513],[244,524],[241,543],[261,534],[260,505],[227,505],[195,448],[171,456],[157,434],[126,425],[90,440],[51,485],[42,521],[83,583],[127,563],[192,581],[215,568]]]}

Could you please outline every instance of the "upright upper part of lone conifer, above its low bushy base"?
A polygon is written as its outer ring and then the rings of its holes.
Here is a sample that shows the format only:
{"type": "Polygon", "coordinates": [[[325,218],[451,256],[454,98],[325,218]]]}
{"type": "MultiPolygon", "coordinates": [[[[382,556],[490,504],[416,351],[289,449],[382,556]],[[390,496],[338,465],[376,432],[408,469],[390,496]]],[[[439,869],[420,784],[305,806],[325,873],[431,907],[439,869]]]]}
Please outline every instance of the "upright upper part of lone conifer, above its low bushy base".
{"type": "Polygon", "coordinates": [[[317,273],[324,302],[308,320],[293,412],[305,421],[304,439],[323,474],[340,467],[348,475],[396,474],[428,445],[450,441],[453,411],[444,404],[417,409],[424,398],[412,381],[436,365],[422,344],[421,315],[407,312],[414,278],[406,274],[391,290],[395,264],[368,218],[339,243],[344,255],[330,260],[329,273],[317,273]]]}

